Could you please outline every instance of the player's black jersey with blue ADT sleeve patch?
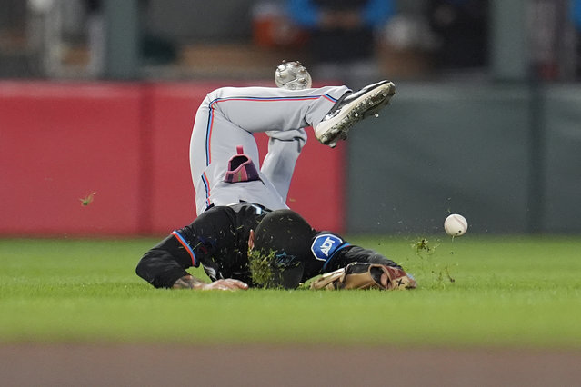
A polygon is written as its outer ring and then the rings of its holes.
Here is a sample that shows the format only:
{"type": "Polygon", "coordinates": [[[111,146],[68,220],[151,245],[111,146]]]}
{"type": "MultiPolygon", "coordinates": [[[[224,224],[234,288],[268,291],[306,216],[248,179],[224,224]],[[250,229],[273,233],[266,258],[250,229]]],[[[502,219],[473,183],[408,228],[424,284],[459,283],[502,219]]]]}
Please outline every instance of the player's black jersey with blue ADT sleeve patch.
{"type": "MultiPolygon", "coordinates": [[[[185,269],[201,264],[212,281],[234,278],[253,286],[248,238],[250,230],[270,212],[254,203],[212,207],[145,253],[135,272],[156,288],[171,288],[189,275],[185,269]]],[[[310,244],[311,255],[306,258],[302,282],[353,262],[400,267],[379,253],[347,243],[336,233],[313,230],[305,243],[310,244]]]]}

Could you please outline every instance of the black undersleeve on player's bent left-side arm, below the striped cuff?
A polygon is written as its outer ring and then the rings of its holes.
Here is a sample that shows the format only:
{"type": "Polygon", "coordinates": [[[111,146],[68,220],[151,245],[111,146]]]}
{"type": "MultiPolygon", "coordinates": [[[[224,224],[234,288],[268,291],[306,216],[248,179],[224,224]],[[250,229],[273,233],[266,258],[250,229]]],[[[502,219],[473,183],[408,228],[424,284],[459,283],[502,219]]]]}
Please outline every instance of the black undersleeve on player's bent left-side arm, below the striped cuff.
{"type": "Polygon", "coordinates": [[[189,275],[185,268],[190,266],[190,254],[173,233],[145,253],[135,273],[156,288],[171,288],[179,278],[189,275]]]}

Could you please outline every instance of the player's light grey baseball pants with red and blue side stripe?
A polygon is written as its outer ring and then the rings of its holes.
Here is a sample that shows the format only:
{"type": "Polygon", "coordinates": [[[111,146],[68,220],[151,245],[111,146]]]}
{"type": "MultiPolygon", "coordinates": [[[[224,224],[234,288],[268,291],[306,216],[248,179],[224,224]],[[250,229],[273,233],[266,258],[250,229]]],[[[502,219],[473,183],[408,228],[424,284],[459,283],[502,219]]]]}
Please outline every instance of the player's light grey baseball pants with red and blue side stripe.
{"type": "Polygon", "coordinates": [[[213,205],[258,203],[288,208],[286,194],[296,159],[306,143],[305,127],[316,126],[349,89],[326,86],[305,90],[276,87],[224,87],[204,99],[195,115],[190,167],[199,215],[213,205]],[[226,183],[228,160],[242,145],[259,168],[254,133],[270,137],[260,180],[226,183]]]}

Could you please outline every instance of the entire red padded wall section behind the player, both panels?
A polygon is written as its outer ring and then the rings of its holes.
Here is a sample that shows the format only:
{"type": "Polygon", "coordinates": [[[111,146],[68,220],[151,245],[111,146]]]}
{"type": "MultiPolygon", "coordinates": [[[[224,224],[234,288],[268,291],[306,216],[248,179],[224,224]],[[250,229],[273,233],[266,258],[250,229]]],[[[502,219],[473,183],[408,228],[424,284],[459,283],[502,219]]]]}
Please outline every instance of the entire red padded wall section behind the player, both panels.
{"type": "MultiPolygon", "coordinates": [[[[165,234],[190,223],[195,110],[220,85],[0,82],[0,234],[165,234]]],[[[257,139],[264,157],[267,138],[257,139]]],[[[344,230],[344,154],[311,140],[297,162],[288,203],[317,228],[344,230]]]]}

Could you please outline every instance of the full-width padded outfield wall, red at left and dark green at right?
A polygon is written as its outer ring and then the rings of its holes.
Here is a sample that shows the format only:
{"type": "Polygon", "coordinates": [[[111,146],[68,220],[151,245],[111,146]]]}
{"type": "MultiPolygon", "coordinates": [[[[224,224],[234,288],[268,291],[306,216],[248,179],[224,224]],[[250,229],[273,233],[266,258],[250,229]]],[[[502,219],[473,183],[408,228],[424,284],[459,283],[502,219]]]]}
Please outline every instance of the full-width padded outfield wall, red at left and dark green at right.
{"type": "MultiPolygon", "coordinates": [[[[165,234],[189,223],[195,109],[220,85],[0,82],[0,235],[165,234]]],[[[441,233],[450,212],[477,233],[581,232],[580,87],[533,97],[526,85],[397,86],[348,143],[309,140],[292,208],[348,233],[441,233]]]]}

